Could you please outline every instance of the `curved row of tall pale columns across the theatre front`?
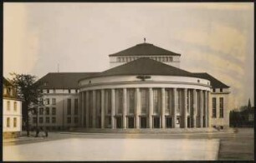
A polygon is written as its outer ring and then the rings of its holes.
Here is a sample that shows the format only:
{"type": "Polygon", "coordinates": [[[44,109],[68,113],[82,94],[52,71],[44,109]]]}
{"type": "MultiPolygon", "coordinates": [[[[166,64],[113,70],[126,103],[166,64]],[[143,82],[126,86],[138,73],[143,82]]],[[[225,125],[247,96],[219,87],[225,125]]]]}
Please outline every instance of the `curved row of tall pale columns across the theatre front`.
{"type": "Polygon", "coordinates": [[[200,128],[208,127],[209,91],[187,88],[113,88],[80,91],[80,126],[86,128],[200,128]],[[135,91],[134,101],[129,100],[128,91],[135,91]],[[148,92],[146,112],[141,111],[141,89],[148,92]],[[122,100],[116,106],[115,90],[121,90],[122,100]],[[161,96],[154,98],[154,91],[161,96]],[[105,91],[108,91],[106,94],[105,91]],[[99,94],[97,96],[96,94],[99,94]],[[169,98],[166,99],[166,94],[169,98]],[[128,95],[128,96],[127,96],[128,95]],[[171,96],[170,96],[171,95],[171,96]],[[106,96],[107,99],[106,99],[106,96]],[[96,99],[97,98],[97,99],[96,99]],[[100,104],[97,105],[97,102],[100,104]],[[133,102],[129,103],[128,102],[133,102]],[[160,102],[155,111],[154,102],[160,102]],[[166,104],[169,102],[168,104],[166,104]],[[134,111],[128,105],[134,104],[134,111]],[[100,108],[99,108],[100,107],[100,108]],[[121,111],[117,111],[121,108],[121,111]]]}

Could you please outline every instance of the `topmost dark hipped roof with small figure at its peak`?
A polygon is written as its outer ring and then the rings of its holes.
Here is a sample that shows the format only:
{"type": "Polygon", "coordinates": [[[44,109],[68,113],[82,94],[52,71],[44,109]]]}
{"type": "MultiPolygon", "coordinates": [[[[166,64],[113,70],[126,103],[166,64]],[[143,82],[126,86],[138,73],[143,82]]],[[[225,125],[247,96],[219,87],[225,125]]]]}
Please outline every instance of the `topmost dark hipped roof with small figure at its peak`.
{"type": "Polygon", "coordinates": [[[181,54],[167,51],[150,43],[141,43],[109,56],[181,56],[181,54]]]}

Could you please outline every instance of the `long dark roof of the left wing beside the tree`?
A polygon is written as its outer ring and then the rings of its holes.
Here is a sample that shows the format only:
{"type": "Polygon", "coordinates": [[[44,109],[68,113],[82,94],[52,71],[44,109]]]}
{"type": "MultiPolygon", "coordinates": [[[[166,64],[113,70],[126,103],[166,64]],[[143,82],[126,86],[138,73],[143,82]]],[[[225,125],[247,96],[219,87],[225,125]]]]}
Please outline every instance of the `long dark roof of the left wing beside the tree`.
{"type": "Polygon", "coordinates": [[[50,72],[40,78],[37,83],[41,84],[41,88],[49,89],[76,89],[79,87],[80,78],[90,77],[97,72],[50,72]]]}

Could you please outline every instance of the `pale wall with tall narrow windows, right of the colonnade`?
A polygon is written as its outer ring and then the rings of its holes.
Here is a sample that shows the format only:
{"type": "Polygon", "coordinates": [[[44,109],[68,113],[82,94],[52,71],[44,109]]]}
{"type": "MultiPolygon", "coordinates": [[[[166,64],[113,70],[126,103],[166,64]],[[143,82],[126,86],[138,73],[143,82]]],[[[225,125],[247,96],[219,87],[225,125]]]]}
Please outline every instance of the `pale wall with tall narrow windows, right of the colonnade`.
{"type": "Polygon", "coordinates": [[[229,91],[226,89],[226,91],[221,92],[212,92],[210,93],[210,99],[209,99],[209,126],[223,126],[223,127],[229,127],[229,111],[230,108],[228,106],[228,94],[229,91]],[[216,98],[216,118],[212,118],[212,98],[216,98]],[[223,97],[223,118],[219,117],[220,107],[219,98],[223,97]]]}

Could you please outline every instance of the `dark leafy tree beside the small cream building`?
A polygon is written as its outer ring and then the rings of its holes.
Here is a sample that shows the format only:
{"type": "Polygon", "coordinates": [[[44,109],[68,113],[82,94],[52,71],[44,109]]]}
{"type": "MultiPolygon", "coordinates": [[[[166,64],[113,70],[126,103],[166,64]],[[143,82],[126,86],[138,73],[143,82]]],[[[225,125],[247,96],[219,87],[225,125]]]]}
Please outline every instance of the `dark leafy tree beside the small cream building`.
{"type": "Polygon", "coordinates": [[[33,111],[31,106],[38,105],[43,96],[39,90],[41,83],[36,82],[37,77],[29,74],[11,73],[13,85],[17,87],[18,97],[23,100],[23,121],[29,136],[29,112],[33,111]]]}

